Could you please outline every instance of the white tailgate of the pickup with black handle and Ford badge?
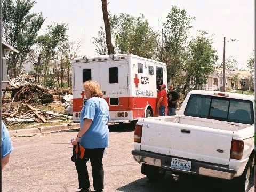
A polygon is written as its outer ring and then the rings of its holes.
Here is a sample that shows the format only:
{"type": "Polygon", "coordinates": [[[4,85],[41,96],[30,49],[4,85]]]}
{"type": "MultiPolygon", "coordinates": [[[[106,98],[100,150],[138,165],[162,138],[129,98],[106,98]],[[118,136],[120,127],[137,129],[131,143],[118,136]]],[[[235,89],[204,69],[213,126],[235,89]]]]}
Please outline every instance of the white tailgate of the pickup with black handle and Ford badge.
{"type": "Polygon", "coordinates": [[[145,119],[141,150],[229,165],[233,131],[145,119]]]}

